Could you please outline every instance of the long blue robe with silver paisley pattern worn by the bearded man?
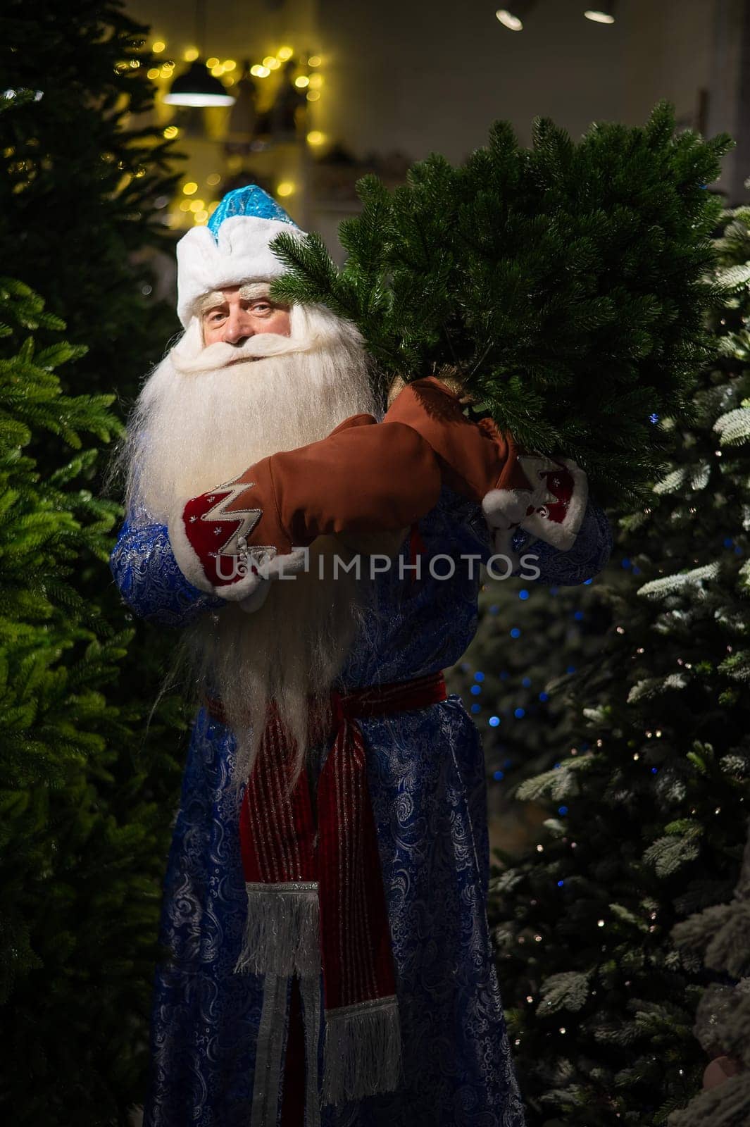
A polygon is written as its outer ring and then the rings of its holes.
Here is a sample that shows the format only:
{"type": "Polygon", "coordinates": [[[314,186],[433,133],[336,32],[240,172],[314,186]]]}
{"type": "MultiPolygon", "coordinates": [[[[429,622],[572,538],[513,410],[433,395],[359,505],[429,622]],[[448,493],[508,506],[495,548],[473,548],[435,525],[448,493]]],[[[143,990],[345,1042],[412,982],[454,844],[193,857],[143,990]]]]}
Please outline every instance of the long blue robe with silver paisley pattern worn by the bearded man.
{"type": "MultiPolygon", "coordinates": [[[[444,553],[461,564],[462,552],[491,554],[481,511],[448,490],[419,532],[426,558],[444,553]]],[[[523,549],[523,538],[516,548],[523,549]]],[[[402,549],[404,562],[409,549],[409,543],[402,549]]],[[[607,520],[589,503],[570,552],[529,548],[539,557],[536,582],[583,583],[601,569],[610,549],[607,520]]],[[[148,514],[134,514],[124,526],[111,567],[124,597],[144,618],[179,625],[216,605],[185,580],[166,530],[148,514]]],[[[340,677],[342,691],[446,668],[471,641],[479,570],[470,577],[464,564],[448,580],[405,576],[391,569],[373,582],[363,633],[340,677]]],[[[318,1061],[307,1067],[306,1121],[523,1127],[486,922],[489,842],[479,731],[455,695],[359,722],[396,969],[403,1082],[395,1092],[342,1108],[311,1107],[322,1083],[323,1017],[320,988],[306,983],[307,1056],[318,1047],[318,1061]]],[[[154,985],[145,1127],[248,1127],[256,1070],[269,1067],[258,1059],[264,978],[234,974],[247,895],[238,799],[230,787],[233,755],[231,733],[200,711],[167,870],[161,940],[172,958],[159,967],[154,985]]],[[[284,1026],[289,991],[291,979],[279,982],[268,1002],[284,1026]]],[[[276,1054],[277,1044],[269,1051],[276,1054]]],[[[278,1075],[283,1067],[275,1057],[271,1071],[278,1075]]],[[[275,1109],[271,1118],[280,1115],[275,1089],[264,1100],[275,1109]]]]}

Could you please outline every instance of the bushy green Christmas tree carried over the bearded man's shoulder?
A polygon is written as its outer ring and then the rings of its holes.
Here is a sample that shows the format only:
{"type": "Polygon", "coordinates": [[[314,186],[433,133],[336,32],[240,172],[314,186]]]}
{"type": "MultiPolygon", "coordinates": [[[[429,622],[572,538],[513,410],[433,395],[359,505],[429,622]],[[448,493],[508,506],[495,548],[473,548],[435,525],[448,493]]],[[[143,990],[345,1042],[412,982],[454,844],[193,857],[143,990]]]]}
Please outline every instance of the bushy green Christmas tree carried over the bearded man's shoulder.
{"type": "Polygon", "coordinates": [[[662,460],[652,415],[685,408],[707,356],[721,202],[705,188],[731,144],[675,135],[666,103],[578,144],[539,118],[521,149],[498,122],[458,168],[432,156],[393,193],[361,180],[341,269],[318,236],[279,234],[273,293],[352,320],[390,378],[457,375],[521,446],[631,499],[662,460]]]}

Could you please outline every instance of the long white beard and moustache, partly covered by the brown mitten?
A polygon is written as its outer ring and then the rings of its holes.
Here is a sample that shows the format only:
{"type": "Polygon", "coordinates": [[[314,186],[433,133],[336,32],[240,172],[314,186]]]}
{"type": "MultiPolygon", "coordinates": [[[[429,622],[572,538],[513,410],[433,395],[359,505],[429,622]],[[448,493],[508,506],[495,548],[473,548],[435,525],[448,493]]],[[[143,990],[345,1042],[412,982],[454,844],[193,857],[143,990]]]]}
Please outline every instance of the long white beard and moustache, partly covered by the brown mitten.
{"type": "MultiPolygon", "coordinates": [[[[361,411],[378,414],[361,338],[328,310],[295,305],[288,337],[259,334],[241,348],[204,347],[194,318],[135,405],[120,459],[128,511],[166,524],[188,498],[269,454],[324,438],[361,411]],[[227,366],[238,355],[242,362],[227,366]]],[[[318,577],[316,556],[334,550],[334,538],[320,538],[310,570],[273,582],[260,610],[245,614],[227,603],[186,631],[191,680],[204,695],[221,698],[236,737],[238,786],[255,763],[271,700],[296,742],[293,782],[304,766],[310,699],[328,700],[356,633],[365,582],[342,571],[333,579],[330,561],[318,577]]]]}

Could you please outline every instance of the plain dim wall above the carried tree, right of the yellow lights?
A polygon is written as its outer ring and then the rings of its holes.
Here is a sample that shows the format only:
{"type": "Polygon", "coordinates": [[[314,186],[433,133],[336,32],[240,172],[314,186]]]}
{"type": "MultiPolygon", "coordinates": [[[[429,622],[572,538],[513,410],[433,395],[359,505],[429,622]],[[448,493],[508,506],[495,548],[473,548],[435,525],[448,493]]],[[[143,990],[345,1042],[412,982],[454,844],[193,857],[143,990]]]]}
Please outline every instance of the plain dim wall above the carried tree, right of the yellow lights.
{"type": "Polygon", "coordinates": [[[321,128],[358,156],[432,150],[462,160],[498,117],[530,141],[536,115],[574,136],[622,114],[619,24],[582,16],[578,0],[539,0],[523,32],[499,0],[320,0],[330,97],[321,128]]]}

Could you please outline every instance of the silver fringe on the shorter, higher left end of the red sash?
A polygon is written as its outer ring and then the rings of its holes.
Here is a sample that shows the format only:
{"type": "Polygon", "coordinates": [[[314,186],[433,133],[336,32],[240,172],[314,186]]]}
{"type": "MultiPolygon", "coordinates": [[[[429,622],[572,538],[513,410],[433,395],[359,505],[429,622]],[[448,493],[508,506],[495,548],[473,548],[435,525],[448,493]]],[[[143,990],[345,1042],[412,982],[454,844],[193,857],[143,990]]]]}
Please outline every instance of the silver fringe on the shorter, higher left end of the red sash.
{"type": "Polygon", "coordinates": [[[248,917],[235,974],[320,975],[318,881],[245,884],[248,917]]]}

